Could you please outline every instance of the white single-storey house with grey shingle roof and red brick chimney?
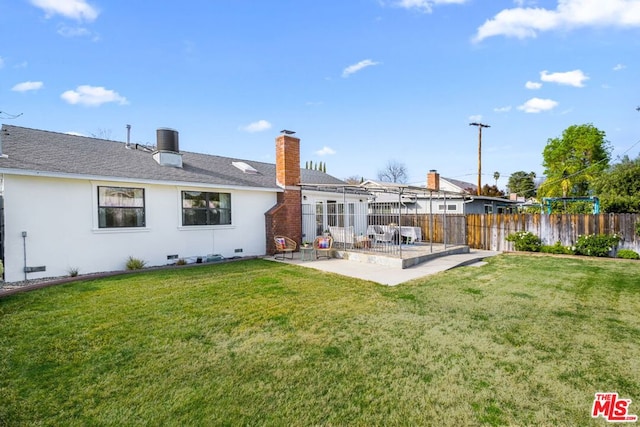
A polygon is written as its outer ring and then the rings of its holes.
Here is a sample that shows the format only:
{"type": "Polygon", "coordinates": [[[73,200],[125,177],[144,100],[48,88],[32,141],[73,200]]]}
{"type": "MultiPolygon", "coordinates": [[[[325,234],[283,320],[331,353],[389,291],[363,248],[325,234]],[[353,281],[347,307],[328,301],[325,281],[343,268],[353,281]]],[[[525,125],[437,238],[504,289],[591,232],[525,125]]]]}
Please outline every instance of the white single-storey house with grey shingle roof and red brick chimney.
{"type": "Polygon", "coordinates": [[[130,256],[149,266],[261,256],[274,235],[302,240],[305,199],[320,222],[327,203],[363,203],[336,192],[343,181],[301,169],[290,134],[277,136],[275,164],[181,152],[171,129],[149,148],[3,125],[0,147],[7,282],[123,270],[130,256]]]}

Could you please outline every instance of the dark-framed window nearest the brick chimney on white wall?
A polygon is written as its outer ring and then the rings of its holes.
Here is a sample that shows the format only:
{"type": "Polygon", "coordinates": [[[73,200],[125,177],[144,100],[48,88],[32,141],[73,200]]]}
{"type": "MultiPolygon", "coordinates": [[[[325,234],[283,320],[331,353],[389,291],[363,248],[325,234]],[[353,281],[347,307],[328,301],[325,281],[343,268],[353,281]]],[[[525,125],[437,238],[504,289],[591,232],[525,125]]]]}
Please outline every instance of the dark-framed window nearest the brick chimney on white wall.
{"type": "Polygon", "coordinates": [[[182,225],[231,224],[231,194],[182,192],[182,225]]]}

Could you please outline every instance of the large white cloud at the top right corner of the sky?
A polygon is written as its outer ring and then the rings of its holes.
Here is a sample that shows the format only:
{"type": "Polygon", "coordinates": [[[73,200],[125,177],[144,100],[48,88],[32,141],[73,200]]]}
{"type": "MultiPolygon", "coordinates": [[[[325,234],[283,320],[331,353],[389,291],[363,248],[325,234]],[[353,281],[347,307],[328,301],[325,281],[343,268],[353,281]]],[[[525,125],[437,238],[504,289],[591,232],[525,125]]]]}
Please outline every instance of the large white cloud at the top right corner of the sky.
{"type": "Polygon", "coordinates": [[[473,41],[500,35],[524,39],[556,29],[639,26],[638,0],[558,0],[554,10],[539,7],[504,9],[478,28],[473,41]]]}

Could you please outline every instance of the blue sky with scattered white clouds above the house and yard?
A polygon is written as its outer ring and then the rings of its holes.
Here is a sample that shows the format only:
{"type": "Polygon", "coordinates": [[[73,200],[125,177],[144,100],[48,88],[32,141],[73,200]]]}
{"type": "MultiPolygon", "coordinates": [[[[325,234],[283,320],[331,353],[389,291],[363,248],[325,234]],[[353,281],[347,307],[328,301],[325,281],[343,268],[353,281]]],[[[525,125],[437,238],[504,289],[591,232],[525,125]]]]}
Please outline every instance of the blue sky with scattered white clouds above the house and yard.
{"type": "Polygon", "coordinates": [[[574,124],[638,155],[640,0],[0,0],[0,122],[411,184],[542,175],[574,124]],[[18,116],[19,115],[19,116],[18,116]],[[14,116],[18,116],[13,118],[14,116]]]}

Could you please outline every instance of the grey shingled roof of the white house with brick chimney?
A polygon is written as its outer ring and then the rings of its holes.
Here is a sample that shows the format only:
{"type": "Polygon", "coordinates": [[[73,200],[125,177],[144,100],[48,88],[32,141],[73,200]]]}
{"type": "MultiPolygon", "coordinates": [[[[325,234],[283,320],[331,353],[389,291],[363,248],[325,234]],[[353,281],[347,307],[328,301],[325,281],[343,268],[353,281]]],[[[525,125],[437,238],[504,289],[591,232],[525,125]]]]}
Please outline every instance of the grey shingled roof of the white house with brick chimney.
{"type": "MultiPolygon", "coordinates": [[[[181,151],[182,168],[159,165],[146,147],[124,142],[3,125],[0,171],[40,176],[86,176],[114,180],[176,182],[280,190],[273,163],[181,151]],[[136,148],[137,147],[137,148],[136,148]],[[245,173],[232,162],[245,162],[245,173]]],[[[344,184],[320,171],[301,170],[302,182],[344,184]]]]}

